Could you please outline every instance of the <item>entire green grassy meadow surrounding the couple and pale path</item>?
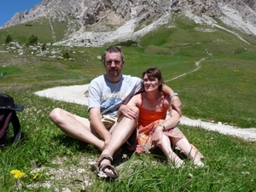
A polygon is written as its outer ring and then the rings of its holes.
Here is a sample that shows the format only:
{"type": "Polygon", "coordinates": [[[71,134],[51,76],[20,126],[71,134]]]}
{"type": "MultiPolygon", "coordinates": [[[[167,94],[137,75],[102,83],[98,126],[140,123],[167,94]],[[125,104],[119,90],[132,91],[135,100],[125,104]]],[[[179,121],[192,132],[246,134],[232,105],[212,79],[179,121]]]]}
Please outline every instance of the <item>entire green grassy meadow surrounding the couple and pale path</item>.
{"type": "MultiPolygon", "coordinates": [[[[158,67],[166,84],[179,94],[183,115],[256,127],[255,38],[240,33],[251,43],[245,44],[216,28],[204,33],[198,28],[209,26],[198,26],[183,17],[166,26],[143,37],[140,48],[122,47],[124,73],[141,77],[148,67],[158,67]],[[176,27],[166,27],[171,25],[176,27]],[[206,49],[211,56],[206,55],[206,49]],[[201,61],[199,66],[197,61],[201,61]]],[[[0,40],[4,39],[1,32],[0,40]]],[[[22,41],[26,44],[26,38],[22,41]]],[[[87,107],[39,97],[34,92],[90,83],[104,73],[97,57],[105,48],[48,47],[60,51],[59,55],[68,51],[74,58],[69,61],[50,58],[50,53],[37,56],[37,51],[32,53],[26,47],[24,55],[15,49],[1,51],[8,46],[0,46],[0,90],[25,106],[18,113],[24,136],[0,151],[1,191],[256,191],[255,143],[185,125],[179,128],[206,157],[206,169],[192,168],[189,160],[183,169],[172,169],[161,153],[138,155],[123,148],[128,158],[115,162],[119,179],[108,183],[96,177],[88,162],[100,152],[66,137],[49,120],[53,108],[88,117],[87,107]],[[26,176],[15,179],[10,174],[15,169],[26,176]],[[33,178],[36,173],[38,177],[33,178]]]]}

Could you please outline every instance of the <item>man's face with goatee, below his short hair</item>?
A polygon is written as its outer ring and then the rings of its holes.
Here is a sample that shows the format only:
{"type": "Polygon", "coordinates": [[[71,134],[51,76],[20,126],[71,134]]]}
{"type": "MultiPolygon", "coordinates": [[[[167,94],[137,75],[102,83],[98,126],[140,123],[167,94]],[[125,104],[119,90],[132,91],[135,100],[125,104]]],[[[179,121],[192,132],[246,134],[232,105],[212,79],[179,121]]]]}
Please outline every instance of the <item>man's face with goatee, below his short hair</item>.
{"type": "Polygon", "coordinates": [[[108,80],[114,82],[119,81],[124,65],[125,60],[121,59],[120,53],[107,53],[104,66],[107,72],[108,80]]]}

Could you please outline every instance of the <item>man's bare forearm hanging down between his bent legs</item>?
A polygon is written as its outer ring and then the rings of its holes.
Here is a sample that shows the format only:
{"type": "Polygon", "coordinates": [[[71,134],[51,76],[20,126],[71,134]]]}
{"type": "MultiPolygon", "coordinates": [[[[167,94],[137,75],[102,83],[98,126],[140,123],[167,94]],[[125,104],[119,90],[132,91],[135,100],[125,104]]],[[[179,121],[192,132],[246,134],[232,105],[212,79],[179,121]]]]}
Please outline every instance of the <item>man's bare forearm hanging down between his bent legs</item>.
{"type": "Polygon", "coordinates": [[[100,108],[90,108],[90,124],[97,134],[104,139],[106,147],[110,141],[111,134],[102,123],[100,108]]]}

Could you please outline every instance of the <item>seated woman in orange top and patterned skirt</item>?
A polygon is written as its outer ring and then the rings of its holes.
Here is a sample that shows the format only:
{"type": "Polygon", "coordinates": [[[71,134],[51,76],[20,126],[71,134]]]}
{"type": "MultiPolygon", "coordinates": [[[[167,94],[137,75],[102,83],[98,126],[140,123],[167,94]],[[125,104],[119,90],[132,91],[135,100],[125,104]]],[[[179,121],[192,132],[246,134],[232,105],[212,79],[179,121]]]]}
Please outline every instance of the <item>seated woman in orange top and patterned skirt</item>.
{"type": "Polygon", "coordinates": [[[168,97],[161,92],[162,85],[160,71],[157,68],[148,68],[143,73],[145,91],[133,96],[127,103],[127,105],[136,106],[140,111],[137,152],[159,147],[172,165],[180,167],[183,166],[183,160],[173,152],[172,146],[175,146],[196,166],[203,167],[204,164],[201,161],[203,156],[177,128],[180,116],[170,105],[172,96],[168,97]],[[168,109],[171,113],[170,118],[166,119],[168,109]]]}

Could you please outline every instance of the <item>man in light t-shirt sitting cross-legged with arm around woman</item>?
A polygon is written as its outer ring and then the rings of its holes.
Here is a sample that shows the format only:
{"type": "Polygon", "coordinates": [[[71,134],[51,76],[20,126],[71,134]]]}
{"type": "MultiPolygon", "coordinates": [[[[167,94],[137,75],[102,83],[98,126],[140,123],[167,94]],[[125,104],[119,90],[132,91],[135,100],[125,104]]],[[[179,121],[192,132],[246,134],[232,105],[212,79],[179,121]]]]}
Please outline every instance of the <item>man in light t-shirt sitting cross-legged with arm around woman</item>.
{"type": "MultiPolygon", "coordinates": [[[[110,47],[105,51],[103,65],[106,69],[106,74],[93,79],[89,86],[88,110],[90,119],[79,117],[61,108],[53,109],[49,114],[49,118],[67,136],[85,143],[91,143],[100,150],[104,150],[110,142],[111,131],[103,124],[102,115],[116,116],[121,107],[120,110],[125,116],[125,118],[121,119],[131,120],[131,122],[129,121],[128,124],[125,124],[125,121],[119,120],[118,124],[115,123],[110,127],[111,130],[114,130],[116,125],[120,124],[119,127],[122,126],[123,130],[126,130],[121,131],[119,129],[121,132],[115,131],[115,135],[120,134],[121,137],[119,137],[119,141],[115,141],[117,145],[114,149],[111,147],[109,154],[113,156],[116,148],[120,147],[120,143],[125,143],[137,125],[138,109],[125,104],[130,100],[131,96],[142,90],[142,79],[122,74],[125,59],[122,50],[118,47],[110,47]]],[[[163,91],[169,96],[174,93],[166,85],[164,85],[163,91]]],[[[181,114],[181,102],[177,96],[172,97],[172,106],[181,114]]],[[[112,143],[112,146],[114,143],[112,143]]]]}

